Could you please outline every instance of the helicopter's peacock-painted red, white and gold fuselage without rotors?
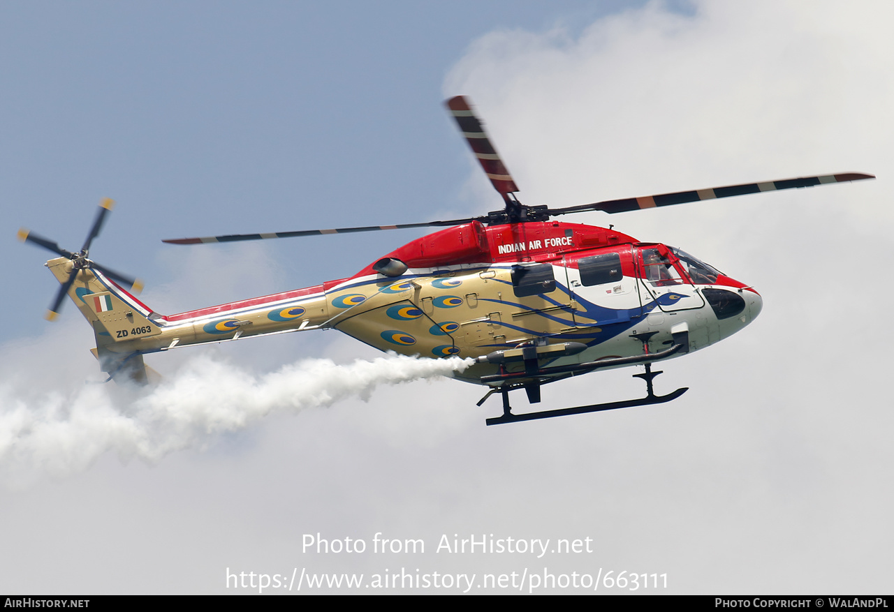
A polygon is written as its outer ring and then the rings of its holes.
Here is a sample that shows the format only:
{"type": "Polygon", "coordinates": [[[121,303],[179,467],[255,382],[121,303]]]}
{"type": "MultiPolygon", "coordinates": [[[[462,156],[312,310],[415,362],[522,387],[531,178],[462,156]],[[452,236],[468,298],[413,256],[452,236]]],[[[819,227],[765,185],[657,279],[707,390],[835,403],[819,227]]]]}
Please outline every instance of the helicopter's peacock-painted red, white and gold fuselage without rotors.
{"type": "MultiPolygon", "coordinates": [[[[67,273],[65,261],[50,262],[51,269],[58,262],[57,277],[67,273]]],[[[762,306],[754,289],[679,249],[554,221],[450,227],[348,279],[181,314],[153,313],[89,270],[70,294],[89,304],[104,289],[131,308],[123,336],[120,324],[104,328],[105,313],[96,312],[97,347],[118,354],[320,328],[427,357],[480,357],[530,343],[586,345],[542,365],[658,352],[679,323],[687,323],[688,349],[698,350],[745,327],[762,306]],[[134,313],[142,324],[127,329],[134,313]]],[[[457,377],[480,382],[497,369],[479,363],[457,377]]]]}

